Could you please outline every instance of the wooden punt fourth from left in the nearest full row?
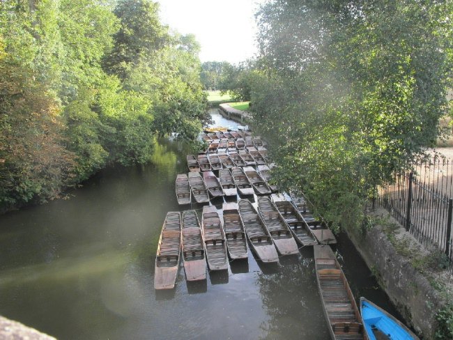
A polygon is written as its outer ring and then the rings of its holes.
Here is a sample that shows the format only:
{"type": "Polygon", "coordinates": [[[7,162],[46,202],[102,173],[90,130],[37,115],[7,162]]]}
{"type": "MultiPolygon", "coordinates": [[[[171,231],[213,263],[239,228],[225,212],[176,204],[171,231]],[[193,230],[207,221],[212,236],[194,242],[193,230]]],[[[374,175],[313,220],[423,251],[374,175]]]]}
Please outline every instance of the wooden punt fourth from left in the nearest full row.
{"type": "Polygon", "coordinates": [[[247,236],[239,215],[238,203],[224,203],[222,208],[225,238],[231,260],[248,258],[247,236]]]}

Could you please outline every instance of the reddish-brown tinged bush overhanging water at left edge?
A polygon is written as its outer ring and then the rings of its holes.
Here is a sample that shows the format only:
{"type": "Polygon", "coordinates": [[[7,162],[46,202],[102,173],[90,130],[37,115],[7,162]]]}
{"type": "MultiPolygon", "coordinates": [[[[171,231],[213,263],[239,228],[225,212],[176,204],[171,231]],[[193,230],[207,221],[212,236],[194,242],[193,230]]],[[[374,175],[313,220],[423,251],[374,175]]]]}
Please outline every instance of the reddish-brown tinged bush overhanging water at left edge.
{"type": "Polygon", "coordinates": [[[0,209],[44,201],[70,180],[59,103],[33,70],[8,52],[0,60],[0,209]]]}

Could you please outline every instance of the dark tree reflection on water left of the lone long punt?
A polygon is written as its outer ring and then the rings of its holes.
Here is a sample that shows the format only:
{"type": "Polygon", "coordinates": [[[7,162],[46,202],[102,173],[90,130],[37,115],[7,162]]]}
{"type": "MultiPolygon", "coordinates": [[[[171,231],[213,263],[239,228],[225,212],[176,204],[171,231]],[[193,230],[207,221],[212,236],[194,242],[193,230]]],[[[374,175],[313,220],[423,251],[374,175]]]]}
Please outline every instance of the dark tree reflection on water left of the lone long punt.
{"type": "Polygon", "coordinates": [[[276,273],[256,281],[269,316],[262,339],[328,339],[312,258],[280,258],[276,273]]]}

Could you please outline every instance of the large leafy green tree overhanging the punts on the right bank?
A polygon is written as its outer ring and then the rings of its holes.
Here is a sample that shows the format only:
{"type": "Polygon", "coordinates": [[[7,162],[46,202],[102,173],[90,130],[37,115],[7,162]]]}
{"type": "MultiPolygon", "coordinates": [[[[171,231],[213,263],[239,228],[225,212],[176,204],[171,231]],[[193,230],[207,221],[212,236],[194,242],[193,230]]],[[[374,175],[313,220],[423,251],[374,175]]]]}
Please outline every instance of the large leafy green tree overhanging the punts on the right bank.
{"type": "Polygon", "coordinates": [[[261,57],[246,83],[284,189],[360,226],[376,185],[436,140],[451,15],[451,3],[413,0],[261,6],[261,57]]]}

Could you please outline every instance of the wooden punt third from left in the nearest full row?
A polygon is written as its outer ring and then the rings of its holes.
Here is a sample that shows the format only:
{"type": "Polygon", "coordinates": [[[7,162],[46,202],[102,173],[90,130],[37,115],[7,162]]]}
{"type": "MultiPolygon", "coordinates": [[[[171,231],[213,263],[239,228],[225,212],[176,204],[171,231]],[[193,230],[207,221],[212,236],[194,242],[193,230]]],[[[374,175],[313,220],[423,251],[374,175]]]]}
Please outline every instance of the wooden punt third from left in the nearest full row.
{"type": "Polygon", "coordinates": [[[227,243],[217,208],[204,206],[201,219],[206,260],[209,270],[227,270],[228,256],[227,243]]]}

